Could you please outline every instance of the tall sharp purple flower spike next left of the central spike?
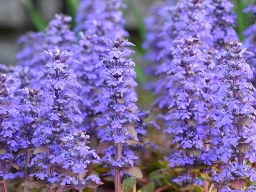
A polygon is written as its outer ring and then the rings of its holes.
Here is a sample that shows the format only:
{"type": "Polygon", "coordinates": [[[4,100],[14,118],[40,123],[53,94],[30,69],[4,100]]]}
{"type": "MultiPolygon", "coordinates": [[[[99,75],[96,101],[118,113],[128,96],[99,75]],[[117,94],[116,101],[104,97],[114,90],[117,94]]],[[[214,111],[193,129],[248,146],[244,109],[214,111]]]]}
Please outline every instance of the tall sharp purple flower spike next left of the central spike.
{"type": "MultiPolygon", "coordinates": [[[[73,70],[68,67],[68,62],[72,58],[73,52],[56,50],[55,52],[44,51],[51,57],[47,66],[48,70],[44,70],[37,77],[41,78],[42,96],[44,97],[38,110],[37,121],[42,122],[34,132],[34,139],[31,142],[39,148],[47,147],[48,151],[34,151],[36,159],[40,159],[44,169],[47,169],[47,177],[44,182],[50,186],[52,191],[53,183],[57,182],[53,165],[58,165],[62,161],[61,158],[65,150],[62,145],[61,138],[72,134],[75,130],[70,126],[71,122],[81,121],[80,117],[74,114],[74,110],[79,112],[77,104],[74,100],[76,94],[72,91],[72,87],[79,86],[76,82],[76,75],[73,70]],[[56,63],[62,63],[64,66],[53,69],[56,63]],[[60,100],[62,98],[62,100],[60,100]]],[[[32,159],[33,160],[33,159],[32,159]]],[[[33,161],[35,162],[35,160],[33,161]]]]}

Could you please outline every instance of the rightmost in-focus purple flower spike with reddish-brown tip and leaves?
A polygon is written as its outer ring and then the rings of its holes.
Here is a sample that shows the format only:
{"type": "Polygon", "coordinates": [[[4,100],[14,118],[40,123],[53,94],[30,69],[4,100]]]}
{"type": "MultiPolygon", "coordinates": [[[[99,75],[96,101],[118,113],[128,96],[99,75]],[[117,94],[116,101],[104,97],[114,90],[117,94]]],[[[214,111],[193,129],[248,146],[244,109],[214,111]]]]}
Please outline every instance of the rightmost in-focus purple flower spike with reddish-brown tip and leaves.
{"type": "Polygon", "coordinates": [[[247,52],[246,48],[241,49],[242,43],[236,40],[232,40],[228,45],[228,52],[222,50],[216,56],[216,59],[223,58],[222,69],[218,73],[223,78],[219,79],[215,89],[218,92],[214,102],[220,102],[220,107],[216,111],[216,125],[211,132],[220,144],[220,148],[216,150],[217,158],[224,163],[231,159],[235,161],[220,166],[223,170],[218,176],[214,173],[212,179],[216,182],[223,179],[226,183],[233,180],[231,184],[237,191],[242,191],[247,183],[246,177],[250,177],[252,182],[256,179],[254,168],[250,169],[246,164],[246,161],[256,161],[256,146],[253,142],[256,138],[256,124],[255,117],[251,115],[256,114],[251,103],[255,100],[251,89],[255,91],[255,88],[252,83],[247,82],[247,79],[253,77],[253,73],[243,57],[243,53],[252,53],[247,52]],[[246,183],[237,187],[238,181],[246,183]]]}

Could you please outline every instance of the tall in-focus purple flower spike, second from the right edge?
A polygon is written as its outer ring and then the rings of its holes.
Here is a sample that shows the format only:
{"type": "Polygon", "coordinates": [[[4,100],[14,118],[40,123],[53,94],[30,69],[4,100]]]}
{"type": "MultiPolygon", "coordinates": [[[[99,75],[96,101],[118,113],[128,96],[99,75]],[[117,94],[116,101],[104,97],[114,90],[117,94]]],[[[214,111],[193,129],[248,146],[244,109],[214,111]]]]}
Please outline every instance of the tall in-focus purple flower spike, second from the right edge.
{"type": "MultiPolygon", "coordinates": [[[[183,186],[192,184],[191,168],[200,164],[209,164],[209,155],[204,151],[203,140],[209,131],[205,118],[208,109],[204,102],[205,72],[203,70],[206,61],[204,54],[197,48],[197,39],[180,38],[175,42],[177,48],[172,52],[172,69],[168,74],[172,75],[169,87],[169,96],[172,102],[169,105],[170,114],[166,120],[171,124],[164,132],[175,133],[171,143],[178,142],[178,149],[170,155],[170,166],[183,165],[186,168],[183,186]]],[[[167,159],[168,160],[168,159],[167,159]]],[[[176,179],[173,180],[176,182],[176,179]]],[[[199,184],[202,184],[200,182],[199,184]]]]}

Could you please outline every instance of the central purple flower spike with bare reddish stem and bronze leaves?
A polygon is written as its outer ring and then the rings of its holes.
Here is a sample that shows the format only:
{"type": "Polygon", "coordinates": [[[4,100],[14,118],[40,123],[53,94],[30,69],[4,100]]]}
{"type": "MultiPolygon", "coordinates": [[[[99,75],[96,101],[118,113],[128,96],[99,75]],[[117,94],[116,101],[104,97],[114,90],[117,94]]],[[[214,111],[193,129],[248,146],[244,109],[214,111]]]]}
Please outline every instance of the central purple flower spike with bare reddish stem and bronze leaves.
{"type": "MultiPolygon", "coordinates": [[[[104,140],[98,147],[98,152],[103,151],[112,145],[116,146],[115,158],[107,153],[102,161],[105,161],[115,171],[115,191],[121,192],[121,171],[130,173],[132,176],[142,178],[142,174],[138,167],[133,167],[132,159],[138,158],[136,156],[128,155],[123,157],[122,145],[136,144],[137,141],[128,140],[133,137],[137,138],[137,132],[130,124],[132,121],[139,121],[138,117],[133,113],[138,109],[133,103],[137,101],[133,87],[137,83],[132,78],[136,75],[134,72],[135,63],[132,59],[125,60],[123,55],[127,49],[125,45],[133,45],[128,41],[116,39],[111,41],[107,37],[103,39],[108,42],[110,46],[110,59],[102,58],[96,67],[104,67],[105,71],[100,75],[101,79],[98,84],[104,83],[101,86],[101,104],[100,107],[105,108],[105,112],[100,119],[100,126],[104,126],[104,131],[101,135],[105,135],[104,140]],[[104,66],[102,65],[104,62],[104,66]],[[131,166],[127,166],[130,164],[131,166]]],[[[96,84],[97,85],[97,84],[96,84]]]]}

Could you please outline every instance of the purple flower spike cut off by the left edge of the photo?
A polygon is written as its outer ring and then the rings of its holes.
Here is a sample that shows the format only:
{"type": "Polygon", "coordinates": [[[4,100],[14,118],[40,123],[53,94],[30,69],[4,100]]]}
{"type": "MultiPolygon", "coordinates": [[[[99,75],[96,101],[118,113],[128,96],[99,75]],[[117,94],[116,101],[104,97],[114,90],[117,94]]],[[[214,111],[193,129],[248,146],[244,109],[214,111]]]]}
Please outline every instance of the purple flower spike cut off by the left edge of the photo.
{"type": "Polygon", "coordinates": [[[7,192],[5,180],[12,177],[10,172],[11,165],[14,167],[17,165],[12,162],[13,159],[11,158],[13,157],[12,152],[16,152],[19,149],[17,139],[19,136],[19,126],[17,121],[20,115],[20,101],[14,96],[16,88],[12,86],[12,82],[18,81],[18,79],[12,76],[7,79],[5,77],[5,74],[0,74],[0,181],[3,192],[7,192]]]}

